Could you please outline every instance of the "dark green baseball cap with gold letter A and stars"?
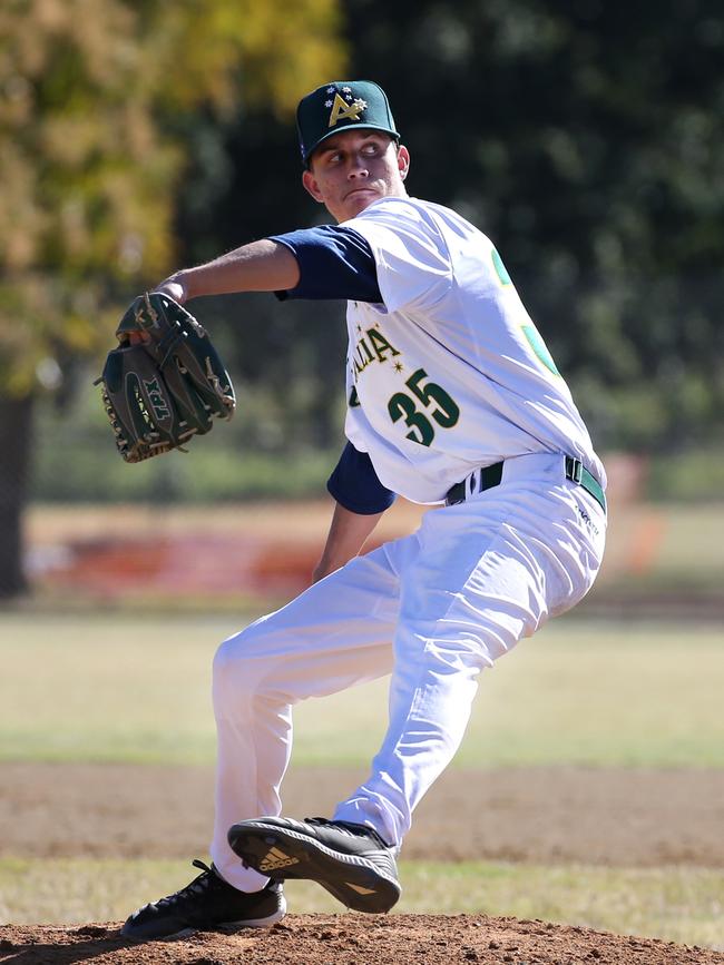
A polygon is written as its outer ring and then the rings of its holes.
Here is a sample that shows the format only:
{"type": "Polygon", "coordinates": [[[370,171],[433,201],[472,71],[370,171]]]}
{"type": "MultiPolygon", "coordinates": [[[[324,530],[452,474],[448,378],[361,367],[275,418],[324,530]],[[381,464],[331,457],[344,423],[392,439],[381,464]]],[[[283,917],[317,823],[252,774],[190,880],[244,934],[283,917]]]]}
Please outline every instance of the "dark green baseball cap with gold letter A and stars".
{"type": "Polygon", "coordinates": [[[332,80],[303,97],[296,108],[296,129],[304,165],[323,140],[350,127],[383,130],[400,139],[387,95],[374,81],[332,80]]]}

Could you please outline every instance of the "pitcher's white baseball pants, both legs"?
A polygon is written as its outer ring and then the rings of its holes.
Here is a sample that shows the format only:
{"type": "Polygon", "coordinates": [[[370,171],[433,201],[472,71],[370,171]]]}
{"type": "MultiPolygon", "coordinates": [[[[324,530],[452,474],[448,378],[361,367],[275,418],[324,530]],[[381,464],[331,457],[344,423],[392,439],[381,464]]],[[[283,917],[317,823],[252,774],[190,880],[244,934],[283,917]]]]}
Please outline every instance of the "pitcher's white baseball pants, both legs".
{"type": "Polygon", "coordinates": [[[389,728],[369,779],[333,817],[399,846],[450,762],[485,667],[573,607],[600,565],[606,516],[559,455],[507,460],[500,485],[436,509],[420,529],[351,560],[219,647],[212,858],[243,890],[266,879],[226,841],[281,813],[292,706],[391,673],[389,728]]]}

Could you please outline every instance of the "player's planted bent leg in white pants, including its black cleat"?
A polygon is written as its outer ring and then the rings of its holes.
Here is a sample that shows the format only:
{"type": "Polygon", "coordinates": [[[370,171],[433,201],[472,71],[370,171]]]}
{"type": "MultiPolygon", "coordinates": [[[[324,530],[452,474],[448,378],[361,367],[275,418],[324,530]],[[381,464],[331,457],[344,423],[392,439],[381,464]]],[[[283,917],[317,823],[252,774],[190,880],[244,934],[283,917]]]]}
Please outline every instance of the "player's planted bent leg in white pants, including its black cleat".
{"type": "MultiPolygon", "coordinates": [[[[404,540],[398,541],[398,552],[404,540]]],[[[394,549],[391,551],[395,554],[394,549]]],[[[292,705],[390,671],[399,583],[390,551],[352,560],[219,647],[214,660],[218,754],[213,865],[139,908],[124,935],[149,939],[219,924],[264,927],[284,916],[281,885],[246,868],[227,831],[277,814],[291,751],[292,705]]]]}

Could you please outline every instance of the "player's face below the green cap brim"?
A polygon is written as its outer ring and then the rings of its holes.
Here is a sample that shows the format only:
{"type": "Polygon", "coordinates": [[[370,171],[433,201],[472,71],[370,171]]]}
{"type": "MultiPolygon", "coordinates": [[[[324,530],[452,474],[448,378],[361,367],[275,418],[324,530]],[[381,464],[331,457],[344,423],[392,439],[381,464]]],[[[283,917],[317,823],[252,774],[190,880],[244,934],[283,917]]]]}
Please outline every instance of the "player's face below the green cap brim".
{"type": "Polygon", "coordinates": [[[372,201],[405,197],[410,155],[387,134],[346,130],[322,141],[302,181],[337,220],[346,221],[372,201]]]}

